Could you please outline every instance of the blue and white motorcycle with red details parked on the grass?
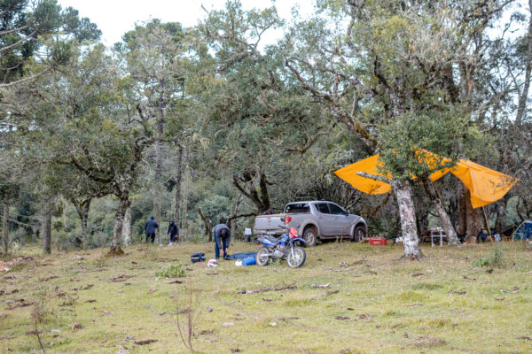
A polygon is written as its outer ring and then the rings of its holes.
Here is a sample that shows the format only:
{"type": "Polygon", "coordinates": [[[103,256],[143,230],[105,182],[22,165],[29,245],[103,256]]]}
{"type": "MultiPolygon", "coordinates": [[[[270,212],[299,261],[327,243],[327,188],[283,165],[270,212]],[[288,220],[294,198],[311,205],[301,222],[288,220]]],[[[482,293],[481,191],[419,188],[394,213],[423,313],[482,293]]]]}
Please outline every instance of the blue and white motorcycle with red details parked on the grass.
{"type": "Polygon", "coordinates": [[[307,254],[302,247],[297,246],[299,242],[305,243],[305,240],[299,237],[297,229],[286,227],[292,220],[286,217],[284,228],[287,234],[275,237],[272,235],[259,235],[257,241],[263,246],[257,251],[255,263],[258,266],[266,266],[271,259],[286,259],[286,264],[292,268],[298,268],[305,263],[307,254]]]}

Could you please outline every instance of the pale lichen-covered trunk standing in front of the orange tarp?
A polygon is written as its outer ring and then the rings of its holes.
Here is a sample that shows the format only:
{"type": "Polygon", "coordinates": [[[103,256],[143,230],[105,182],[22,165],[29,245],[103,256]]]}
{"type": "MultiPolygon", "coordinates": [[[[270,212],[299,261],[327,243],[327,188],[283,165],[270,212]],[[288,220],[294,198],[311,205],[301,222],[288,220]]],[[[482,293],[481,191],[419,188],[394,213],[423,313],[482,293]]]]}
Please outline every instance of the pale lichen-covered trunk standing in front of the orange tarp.
{"type": "Polygon", "coordinates": [[[404,254],[402,259],[419,259],[423,257],[419,250],[418,229],[416,227],[416,211],[412,200],[409,181],[392,181],[403,234],[404,254]]]}

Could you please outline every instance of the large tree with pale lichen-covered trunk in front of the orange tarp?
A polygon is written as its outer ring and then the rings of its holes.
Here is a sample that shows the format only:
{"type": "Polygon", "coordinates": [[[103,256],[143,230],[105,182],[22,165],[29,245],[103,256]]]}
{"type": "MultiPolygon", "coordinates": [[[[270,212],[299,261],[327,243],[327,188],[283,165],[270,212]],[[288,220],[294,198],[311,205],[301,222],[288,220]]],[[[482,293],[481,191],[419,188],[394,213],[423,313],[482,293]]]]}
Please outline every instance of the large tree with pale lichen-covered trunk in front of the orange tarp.
{"type": "MultiPolygon", "coordinates": [[[[334,119],[385,156],[407,240],[405,258],[420,256],[409,180],[411,167],[419,163],[414,151],[427,146],[401,137],[389,143],[379,130],[429,112],[462,108],[460,116],[468,116],[472,99],[468,82],[481,56],[474,35],[479,27],[489,26],[505,4],[332,1],[322,4],[321,17],[298,23],[287,36],[286,67],[301,87],[328,105],[334,119]],[[346,18],[348,24],[342,26],[346,18]],[[328,19],[338,25],[328,26],[328,19]],[[453,69],[457,64],[458,82],[453,69]],[[457,92],[463,95],[458,97],[457,92]],[[460,107],[460,101],[465,105],[460,107]],[[402,164],[405,161],[410,163],[402,164]]],[[[439,119],[437,114],[435,118],[439,119]]],[[[460,147],[468,136],[458,138],[455,143],[460,147]]],[[[447,155],[449,151],[433,152],[447,155]]]]}

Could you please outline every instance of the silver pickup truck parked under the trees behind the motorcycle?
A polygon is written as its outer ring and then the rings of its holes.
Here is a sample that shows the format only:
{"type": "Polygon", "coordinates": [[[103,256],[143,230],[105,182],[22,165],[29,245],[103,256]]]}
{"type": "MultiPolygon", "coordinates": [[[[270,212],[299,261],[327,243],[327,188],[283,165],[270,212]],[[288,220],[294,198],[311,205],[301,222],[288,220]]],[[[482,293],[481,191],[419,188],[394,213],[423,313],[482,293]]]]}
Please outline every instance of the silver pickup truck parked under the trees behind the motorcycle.
{"type": "Polygon", "coordinates": [[[318,239],[336,237],[358,242],[368,233],[362,217],[349,214],[338,204],[319,200],[289,203],[282,214],[257,216],[254,235],[281,235],[286,216],[292,217],[288,227],[295,227],[309,246],[316,245],[318,239]]]}

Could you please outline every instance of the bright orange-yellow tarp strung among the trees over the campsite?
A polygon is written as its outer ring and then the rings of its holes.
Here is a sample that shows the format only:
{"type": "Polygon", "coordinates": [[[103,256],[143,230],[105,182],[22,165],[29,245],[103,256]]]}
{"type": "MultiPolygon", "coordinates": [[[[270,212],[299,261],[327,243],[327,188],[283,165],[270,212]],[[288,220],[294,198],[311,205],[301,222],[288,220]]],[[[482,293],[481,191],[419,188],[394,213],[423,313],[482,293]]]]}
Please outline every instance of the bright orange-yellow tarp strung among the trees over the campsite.
{"type": "MultiPolygon", "coordinates": [[[[432,152],[426,150],[419,153],[419,161],[425,162],[429,168],[434,169],[439,165],[449,162],[449,158],[442,158],[432,152]]],[[[390,174],[383,175],[379,173],[379,166],[382,161],[379,160],[379,155],[373,155],[370,158],[364,158],[355,164],[347,165],[340,170],[334,172],[342,180],[347,181],[355,189],[363,191],[371,195],[384,194],[389,192],[392,187],[385,182],[375,181],[370,178],[365,178],[356,173],[363,172],[383,176],[390,179],[390,174]]],[[[436,181],[445,173],[451,172],[456,175],[460,181],[464,182],[465,187],[471,193],[471,204],[473,208],[481,207],[482,205],[491,204],[498,199],[505,196],[505,194],[512,188],[517,179],[491,170],[488,167],[475,164],[469,160],[460,159],[457,165],[450,169],[445,168],[431,174],[430,179],[436,181]]]]}

